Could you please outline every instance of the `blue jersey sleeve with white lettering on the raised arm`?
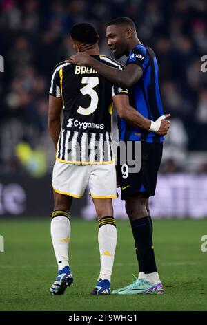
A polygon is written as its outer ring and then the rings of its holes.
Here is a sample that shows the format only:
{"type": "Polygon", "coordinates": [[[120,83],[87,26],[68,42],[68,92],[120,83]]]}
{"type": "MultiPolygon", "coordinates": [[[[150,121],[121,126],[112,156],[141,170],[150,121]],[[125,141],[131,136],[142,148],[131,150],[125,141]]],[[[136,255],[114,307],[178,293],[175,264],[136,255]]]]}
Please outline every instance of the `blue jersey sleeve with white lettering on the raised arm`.
{"type": "Polygon", "coordinates": [[[136,46],[131,50],[126,62],[126,66],[131,63],[137,64],[137,66],[140,66],[144,72],[149,64],[149,60],[150,56],[148,55],[146,48],[144,46],[136,46]]]}

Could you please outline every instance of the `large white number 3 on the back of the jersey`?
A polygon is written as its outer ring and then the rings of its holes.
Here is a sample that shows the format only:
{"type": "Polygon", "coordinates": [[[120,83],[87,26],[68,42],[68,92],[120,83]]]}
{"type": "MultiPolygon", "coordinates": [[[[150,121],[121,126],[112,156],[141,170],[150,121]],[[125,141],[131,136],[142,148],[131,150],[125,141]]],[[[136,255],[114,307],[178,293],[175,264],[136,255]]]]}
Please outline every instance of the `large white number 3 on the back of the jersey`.
{"type": "Polygon", "coordinates": [[[98,106],[99,96],[97,92],[93,89],[95,86],[99,84],[99,78],[97,77],[83,77],[81,80],[82,84],[86,84],[83,88],[80,89],[83,95],[90,95],[91,101],[90,106],[88,107],[81,107],[77,109],[77,112],[81,115],[90,115],[92,114],[98,106]]]}

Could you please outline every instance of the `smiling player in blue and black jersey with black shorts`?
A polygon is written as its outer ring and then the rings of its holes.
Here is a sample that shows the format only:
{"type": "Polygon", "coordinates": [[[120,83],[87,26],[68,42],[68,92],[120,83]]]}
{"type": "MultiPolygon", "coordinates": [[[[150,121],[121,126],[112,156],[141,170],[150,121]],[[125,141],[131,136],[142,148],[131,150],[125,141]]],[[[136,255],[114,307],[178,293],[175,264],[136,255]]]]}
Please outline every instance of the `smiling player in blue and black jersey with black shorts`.
{"type": "MultiPolygon", "coordinates": [[[[106,66],[86,53],[73,55],[69,62],[95,68],[113,84],[128,88],[130,105],[145,118],[155,122],[164,116],[155,53],[148,46],[141,44],[135,24],[128,17],[119,17],[110,21],[106,28],[106,38],[116,58],[126,55],[127,61],[123,71],[106,66]]],[[[155,133],[153,122],[148,131],[132,127],[121,118],[118,118],[118,125],[119,138],[126,142],[126,148],[129,142],[141,142],[140,171],[131,172],[128,163],[121,165],[120,161],[118,161],[117,168],[121,199],[126,201],[126,213],[135,239],[139,275],[132,284],[114,290],[112,293],[119,295],[162,294],[164,287],[159,279],[155,262],[152,219],[148,200],[150,196],[155,195],[164,137],[155,133]]],[[[168,127],[170,127],[169,121],[168,127]]]]}

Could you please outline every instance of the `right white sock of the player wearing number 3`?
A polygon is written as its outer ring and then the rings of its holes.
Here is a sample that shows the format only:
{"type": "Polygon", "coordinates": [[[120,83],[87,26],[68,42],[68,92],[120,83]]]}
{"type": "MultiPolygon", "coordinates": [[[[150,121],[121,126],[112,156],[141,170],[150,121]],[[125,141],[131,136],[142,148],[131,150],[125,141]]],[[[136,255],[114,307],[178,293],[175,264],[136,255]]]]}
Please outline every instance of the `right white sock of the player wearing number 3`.
{"type": "Polygon", "coordinates": [[[98,280],[107,279],[110,281],[117,245],[117,228],[115,225],[101,225],[98,240],[101,259],[101,270],[98,280]]]}

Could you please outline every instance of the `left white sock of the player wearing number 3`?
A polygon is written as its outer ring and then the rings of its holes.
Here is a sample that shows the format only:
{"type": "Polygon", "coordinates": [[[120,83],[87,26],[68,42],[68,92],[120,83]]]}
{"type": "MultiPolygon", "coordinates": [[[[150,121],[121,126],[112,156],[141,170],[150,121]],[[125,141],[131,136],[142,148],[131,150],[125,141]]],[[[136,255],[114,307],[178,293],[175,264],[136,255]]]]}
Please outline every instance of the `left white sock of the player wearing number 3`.
{"type": "Polygon", "coordinates": [[[70,220],[66,216],[55,216],[51,220],[50,231],[58,270],[61,270],[65,266],[69,266],[70,220]]]}

